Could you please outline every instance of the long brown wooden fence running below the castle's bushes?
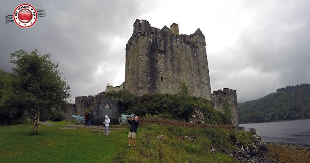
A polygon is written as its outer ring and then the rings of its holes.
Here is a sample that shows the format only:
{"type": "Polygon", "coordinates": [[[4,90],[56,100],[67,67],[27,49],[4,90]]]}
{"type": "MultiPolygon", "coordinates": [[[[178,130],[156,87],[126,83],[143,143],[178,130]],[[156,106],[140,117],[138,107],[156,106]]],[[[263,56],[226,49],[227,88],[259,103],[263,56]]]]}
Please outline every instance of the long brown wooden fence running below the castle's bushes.
{"type": "Polygon", "coordinates": [[[235,129],[236,126],[233,125],[202,125],[184,121],[176,121],[162,118],[151,118],[151,117],[139,117],[139,125],[147,124],[158,124],[158,125],[169,125],[173,127],[185,127],[185,128],[226,128],[226,129],[235,129]]]}

